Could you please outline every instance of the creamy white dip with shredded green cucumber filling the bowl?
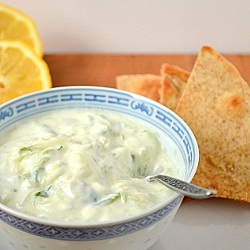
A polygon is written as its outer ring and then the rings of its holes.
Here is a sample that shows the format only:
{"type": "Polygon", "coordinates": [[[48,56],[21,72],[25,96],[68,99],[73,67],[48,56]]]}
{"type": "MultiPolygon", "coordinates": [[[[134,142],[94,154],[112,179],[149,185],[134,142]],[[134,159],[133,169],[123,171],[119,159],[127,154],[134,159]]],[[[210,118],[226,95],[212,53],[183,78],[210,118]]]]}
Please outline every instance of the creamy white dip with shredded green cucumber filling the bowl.
{"type": "Polygon", "coordinates": [[[147,209],[178,177],[157,134],[112,112],[62,110],[27,119],[0,139],[0,202],[42,218],[105,221],[147,209]]]}

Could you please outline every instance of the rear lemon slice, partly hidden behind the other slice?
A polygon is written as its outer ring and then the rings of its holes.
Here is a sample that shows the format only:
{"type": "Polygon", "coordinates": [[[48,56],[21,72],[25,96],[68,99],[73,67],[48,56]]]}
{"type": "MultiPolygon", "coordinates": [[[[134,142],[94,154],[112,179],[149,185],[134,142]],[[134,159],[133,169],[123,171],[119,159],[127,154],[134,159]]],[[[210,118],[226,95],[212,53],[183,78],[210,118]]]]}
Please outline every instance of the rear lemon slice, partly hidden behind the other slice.
{"type": "Polygon", "coordinates": [[[42,41],[32,18],[5,4],[0,4],[0,40],[18,39],[37,55],[43,55],[42,41]]]}

